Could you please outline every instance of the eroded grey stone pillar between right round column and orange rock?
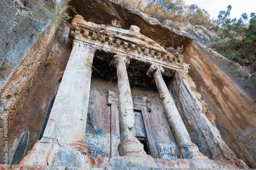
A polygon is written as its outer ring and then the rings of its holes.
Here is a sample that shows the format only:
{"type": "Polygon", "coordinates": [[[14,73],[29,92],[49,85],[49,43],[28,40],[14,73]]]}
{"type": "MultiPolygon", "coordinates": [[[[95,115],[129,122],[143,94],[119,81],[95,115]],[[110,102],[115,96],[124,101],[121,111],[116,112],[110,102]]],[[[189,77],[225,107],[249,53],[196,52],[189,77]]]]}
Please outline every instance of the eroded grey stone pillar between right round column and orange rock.
{"type": "Polygon", "coordinates": [[[199,151],[214,160],[236,160],[234,152],[223,141],[216,127],[215,115],[201,99],[194,81],[187,75],[177,75],[168,85],[190,138],[199,151]]]}

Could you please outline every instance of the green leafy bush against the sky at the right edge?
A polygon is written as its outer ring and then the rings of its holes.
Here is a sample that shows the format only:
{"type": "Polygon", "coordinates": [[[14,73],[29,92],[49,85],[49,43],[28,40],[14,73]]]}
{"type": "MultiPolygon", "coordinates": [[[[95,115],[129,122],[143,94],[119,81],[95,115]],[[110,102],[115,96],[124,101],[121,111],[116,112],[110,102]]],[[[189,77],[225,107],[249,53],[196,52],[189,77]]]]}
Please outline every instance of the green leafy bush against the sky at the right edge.
{"type": "Polygon", "coordinates": [[[249,66],[255,62],[256,56],[256,15],[251,13],[249,21],[246,13],[239,19],[230,18],[231,8],[229,5],[227,11],[220,11],[218,19],[223,35],[212,47],[226,58],[249,66]]]}

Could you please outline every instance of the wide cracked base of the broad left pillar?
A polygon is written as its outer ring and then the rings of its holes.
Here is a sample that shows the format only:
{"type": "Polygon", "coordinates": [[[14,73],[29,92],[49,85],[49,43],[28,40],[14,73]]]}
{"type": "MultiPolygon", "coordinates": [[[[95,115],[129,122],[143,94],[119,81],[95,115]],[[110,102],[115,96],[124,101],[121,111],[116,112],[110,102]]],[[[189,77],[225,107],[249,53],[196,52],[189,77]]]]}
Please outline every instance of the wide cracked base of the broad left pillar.
{"type": "Polygon", "coordinates": [[[42,138],[20,164],[89,168],[89,158],[84,151],[59,144],[57,139],[42,138]]]}

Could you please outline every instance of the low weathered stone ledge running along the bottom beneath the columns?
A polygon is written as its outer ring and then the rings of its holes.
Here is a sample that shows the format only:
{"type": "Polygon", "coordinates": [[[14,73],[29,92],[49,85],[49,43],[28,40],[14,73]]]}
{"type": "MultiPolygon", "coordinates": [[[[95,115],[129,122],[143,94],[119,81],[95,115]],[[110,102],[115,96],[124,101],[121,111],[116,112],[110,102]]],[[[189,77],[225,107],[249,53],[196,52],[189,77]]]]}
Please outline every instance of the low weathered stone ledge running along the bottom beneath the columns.
{"type": "Polygon", "coordinates": [[[73,170],[73,169],[243,169],[238,161],[217,161],[201,159],[168,160],[161,158],[142,157],[112,157],[91,158],[90,168],[77,168],[65,166],[27,166],[27,165],[0,165],[0,170],[73,170]]]}

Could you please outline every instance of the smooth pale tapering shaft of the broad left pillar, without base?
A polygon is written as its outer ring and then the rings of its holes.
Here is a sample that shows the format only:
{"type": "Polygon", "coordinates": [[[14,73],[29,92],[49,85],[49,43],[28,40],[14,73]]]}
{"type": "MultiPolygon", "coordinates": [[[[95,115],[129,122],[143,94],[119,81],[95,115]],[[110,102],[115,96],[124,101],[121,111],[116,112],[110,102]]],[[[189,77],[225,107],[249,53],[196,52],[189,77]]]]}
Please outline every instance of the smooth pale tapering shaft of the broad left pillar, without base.
{"type": "Polygon", "coordinates": [[[59,142],[84,142],[95,48],[74,41],[44,137],[59,142]]]}

